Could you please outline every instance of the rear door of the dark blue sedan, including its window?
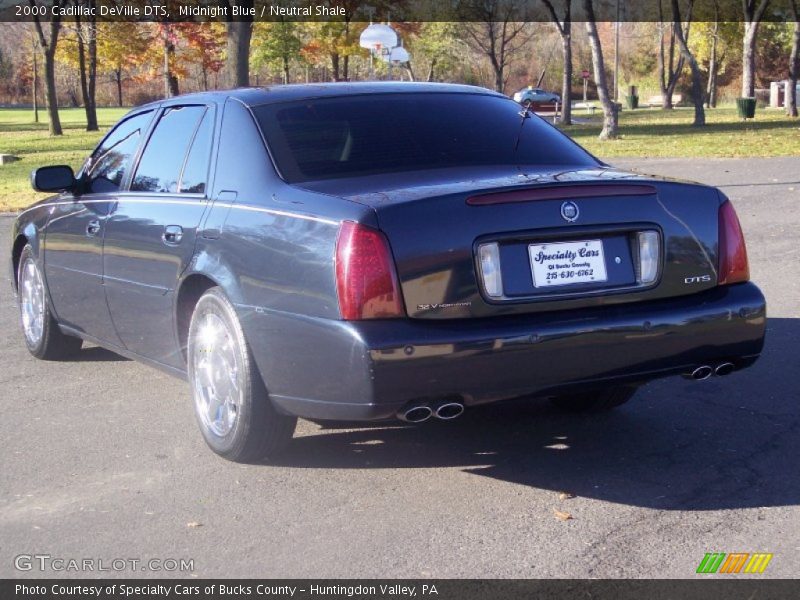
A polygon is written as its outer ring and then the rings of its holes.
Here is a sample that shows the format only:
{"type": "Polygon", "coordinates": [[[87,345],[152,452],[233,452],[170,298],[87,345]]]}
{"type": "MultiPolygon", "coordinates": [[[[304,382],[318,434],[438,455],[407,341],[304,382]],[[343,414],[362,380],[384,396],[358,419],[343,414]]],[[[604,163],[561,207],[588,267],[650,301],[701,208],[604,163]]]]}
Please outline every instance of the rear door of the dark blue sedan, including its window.
{"type": "Polygon", "coordinates": [[[173,300],[206,208],[213,106],[169,106],[158,116],[129,190],[108,218],[103,273],[125,347],[181,367],[173,300]]]}

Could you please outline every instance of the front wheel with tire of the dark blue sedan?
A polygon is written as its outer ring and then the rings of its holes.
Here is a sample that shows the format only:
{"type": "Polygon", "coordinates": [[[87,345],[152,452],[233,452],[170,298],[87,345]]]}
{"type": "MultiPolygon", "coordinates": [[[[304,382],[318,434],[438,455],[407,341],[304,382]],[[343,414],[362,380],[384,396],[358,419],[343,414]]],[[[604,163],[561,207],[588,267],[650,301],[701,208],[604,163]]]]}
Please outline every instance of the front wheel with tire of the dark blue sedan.
{"type": "Polygon", "coordinates": [[[17,300],[28,352],[42,360],[59,360],[80,351],[83,340],[62,333],[53,317],[50,294],[30,244],[19,259],[17,300]]]}

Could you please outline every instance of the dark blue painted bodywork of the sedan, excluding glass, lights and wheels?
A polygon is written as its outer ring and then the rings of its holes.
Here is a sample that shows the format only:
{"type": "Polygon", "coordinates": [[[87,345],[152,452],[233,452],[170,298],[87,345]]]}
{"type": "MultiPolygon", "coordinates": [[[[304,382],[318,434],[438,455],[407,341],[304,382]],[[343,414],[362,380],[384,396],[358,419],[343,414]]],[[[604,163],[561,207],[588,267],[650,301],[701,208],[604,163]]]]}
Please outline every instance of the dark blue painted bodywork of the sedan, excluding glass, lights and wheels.
{"type": "MultiPolygon", "coordinates": [[[[717,286],[717,214],[725,198],[713,188],[600,161],[290,184],[253,115],[271,102],[409,91],[499,96],[470,86],[367,83],[204,93],[141,107],[154,115],[186,103],[216,107],[206,192],[133,193],[126,181],[107,196],[64,193],[24,211],[12,239],[28,239],[45,265],[64,331],[178,376],[186,373],[188,319],[180,298],[200,279],[219,286],[276,406],[310,418],[384,419],[420,398],[457,395],[473,405],[755,360],[766,305],[752,283],[717,286]],[[653,191],[584,194],[571,200],[579,218],[562,215],[559,189],[568,195],[575,185],[643,184],[653,191]],[[555,197],[535,201],[467,202],[553,189],[555,197]],[[87,238],[86,221],[94,219],[103,235],[87,238]],[[340,318],[334,257],[343,221],[388,239],[404,317],[340,318]],[[186,244],[176,249],[161,235],[178,224],[186,244]],[[541,239],[607,235],[619,244],[626,232],[648,227],[661,236],[664,265],[652,286],[500,301],[481,288],[475,249],[485,240],[519,252],[541,239]]],[[[630,269],[633,259],[621,258],[620,269],[630,269]]]]}

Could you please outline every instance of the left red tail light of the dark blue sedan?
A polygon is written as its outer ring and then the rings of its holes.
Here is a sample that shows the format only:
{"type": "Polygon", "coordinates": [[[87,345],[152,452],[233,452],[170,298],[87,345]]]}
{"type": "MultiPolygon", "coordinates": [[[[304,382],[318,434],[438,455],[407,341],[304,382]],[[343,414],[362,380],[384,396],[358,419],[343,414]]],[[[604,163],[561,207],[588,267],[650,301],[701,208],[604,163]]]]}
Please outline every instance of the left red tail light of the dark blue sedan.
{"type": "Polygon", "coordinates": [[[345,221],[336,241],[336,291],[347,321],[403,316],[389,242],[380,232],[345,221]]]}

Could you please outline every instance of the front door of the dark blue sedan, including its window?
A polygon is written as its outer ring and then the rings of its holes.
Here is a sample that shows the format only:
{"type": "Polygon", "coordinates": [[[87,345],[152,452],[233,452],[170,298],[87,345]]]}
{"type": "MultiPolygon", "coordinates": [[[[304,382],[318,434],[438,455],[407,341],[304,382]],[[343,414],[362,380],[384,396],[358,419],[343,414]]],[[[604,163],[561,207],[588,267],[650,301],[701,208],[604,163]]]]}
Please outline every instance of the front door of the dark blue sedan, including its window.
{"type": "Polygon", "coordinates": [[[103,234],[153,111],[121,121],[78,174],[80,190],[52,209],[44,236],[44,271],[60,323],[119,345],[103,291],[103,234]]]}

